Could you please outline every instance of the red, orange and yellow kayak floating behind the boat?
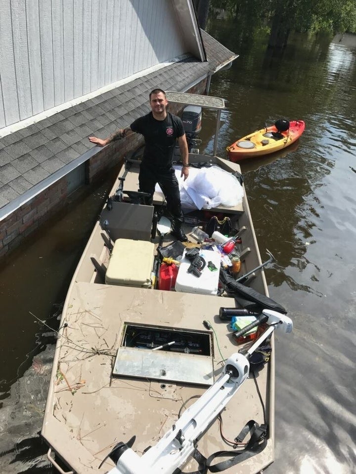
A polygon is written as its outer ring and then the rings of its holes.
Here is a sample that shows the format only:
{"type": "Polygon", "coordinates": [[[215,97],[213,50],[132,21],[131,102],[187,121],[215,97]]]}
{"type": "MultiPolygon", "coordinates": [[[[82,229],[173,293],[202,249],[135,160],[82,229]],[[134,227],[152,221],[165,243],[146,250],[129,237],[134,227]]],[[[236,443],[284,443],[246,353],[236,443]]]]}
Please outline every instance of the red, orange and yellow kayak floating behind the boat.
{"type": "Polygon", "coordinates": [[[226,148],[231,161],[261,157],[277,152],[296,142],[305,129],[303,120],[278,119],[274,125],[240,138],[226,148]]]}

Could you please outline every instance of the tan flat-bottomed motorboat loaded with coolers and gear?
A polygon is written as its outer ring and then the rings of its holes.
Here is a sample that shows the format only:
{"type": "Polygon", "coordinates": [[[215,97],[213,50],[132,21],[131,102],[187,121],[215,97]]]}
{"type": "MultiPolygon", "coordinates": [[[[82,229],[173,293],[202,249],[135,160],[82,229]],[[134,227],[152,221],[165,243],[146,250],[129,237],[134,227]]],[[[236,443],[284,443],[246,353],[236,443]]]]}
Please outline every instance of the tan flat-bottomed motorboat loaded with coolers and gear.
{"type": "MultiPolygon", "coordinates": [[[[167,96],[179,107],[215,110],[218,131],[223,99],[167,96]]],[[[192,168],[238,172],[216,149],[217,133],[213,156],[195,143],[192,168]]],[[[291,321],[270,306],[246,195],[231,207],[189,211],[184,231],[191,243],[162,228],[156,236],[164,197],[156,193],[154,206],[134,202],[137,161],[123,165],[65,300],[42,428],[48,459],[60,473],[261,473],[274,455],[273,334],[290,332],[291,321]],[[207,250],[194,238],[197,223],[214,215],[228,217],[241,240],[237,279],[219,272],[223,256],[213,239],[206,239],[207,250]],[[184,267],[179,246],[208,255],[200,276],[184,267]],[[171,291],[153,283],[164,255],[180,259],[171,291]],[[235,314],[254,315],[255,339],[241,336],[239,343],[239,331],[230,328],[235,314]],[[253,371],[261,344],[271,352],[253,371]]]]}

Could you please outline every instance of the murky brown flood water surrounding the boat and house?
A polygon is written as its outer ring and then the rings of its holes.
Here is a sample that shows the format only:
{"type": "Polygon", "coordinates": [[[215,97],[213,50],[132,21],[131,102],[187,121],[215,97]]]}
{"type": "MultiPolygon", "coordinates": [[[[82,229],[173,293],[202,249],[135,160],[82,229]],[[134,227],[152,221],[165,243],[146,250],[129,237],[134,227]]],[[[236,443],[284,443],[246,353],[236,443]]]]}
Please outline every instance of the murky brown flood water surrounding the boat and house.
{"type": "MultiPolygon", "coordinates": [[[[270,296],[294,322],[292,334],[276,337],[275,462],[266,472],[354,473],[356,40],[298,35],[273,57],[266,36],[244,41],[233,32],[227,23],[210,26],[214,37],[240,54],[211,83],[210,95],[227,100],[218,155],[277,118],[306,122],[296,145],[241,166],[262,259],[266,249],[276,258],[266,270],[270,296]]],[[[206,113],[202,139],[210,150],[213,133],[213,116],[206,113]]],[[[1,269],[4,405],[45,346],[33,315],[55,324],[50,316],[64,300],[114,176],[73,201],[1,269]]],[[[3,473],[53,472],[36,436],[28,440],[26,456],[16,447],[9,451],[0,441],[3,473]]]]}

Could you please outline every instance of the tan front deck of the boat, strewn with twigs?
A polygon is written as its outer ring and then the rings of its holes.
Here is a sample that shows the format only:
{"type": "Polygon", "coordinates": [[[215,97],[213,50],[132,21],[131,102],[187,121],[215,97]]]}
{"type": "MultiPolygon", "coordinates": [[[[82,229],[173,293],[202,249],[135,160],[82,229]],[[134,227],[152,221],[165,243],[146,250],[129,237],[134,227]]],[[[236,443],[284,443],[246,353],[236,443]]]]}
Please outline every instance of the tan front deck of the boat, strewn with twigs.
{"type": "MultiPolygon", "coordinates": [[[[117,442],[125,442],[133,435],[137,436],[134,450],[141,455],[172,427],[183,403],[190,397],[202,395],[208,388],[203,384],[175,383],[169,380],[169,374],[166,381],[113,376],[113,364],[116,352],[123,344],[125,325],[144,323],[209,334],[213,372],[217,378],[223,368],[222,360],[241,347],[231,340],[228,325],[219,319],[222,304],[234,306],[234,300],[102,284],[93,287],[83,282],[74,285],[70,308],[62,321],[62,326],[65,324],[66,327],[60,331],[54,359],[56,380],[50,388],[53,406],[51,410],[47,408],[44,422],[45,438],[50,445],[61,446],[63,452],[56,449],[60,457],[68,457],[67,449],[76,453],[72,456],[72,469],[80,473],[107,472],[113,463],[108,460],[98,470],[101,460],[117,442]],[[214,334],[206,330],[204,319],[211,322],[214,334]]],[[[152,355],[150,351],[149,356],[152,355]]],[[[199,356],[179,356],[189,357],[194,371],[195,359],[199,356]]],[[[267,380],[268,371],[261,371],[257,381],[263,399],[269,391],[267,380]]],[[[269,409],[267,406],[267,412],[269,409]]],[[[264,423],[255,382],[248,379],[223,411],[224,436],[234,439],[252,413],[255,421],[264,423]],[[231,419],[233,423],[230,423],[231,419]]],[[[218,421],[199,441],[199,449],[205,456],[222,449],[218,421]]],[[[254,455],[256,472],[266,466],[272,450],[270,442],[259,455],[254,455]]],[[[244,464],[248,463],[248,459],[242,461],[226,473],[251,472],[251,468],[244,471],[244,464]]],[[[194,468],[194,461],[185,469],[190,468],[194,468]]]]}

